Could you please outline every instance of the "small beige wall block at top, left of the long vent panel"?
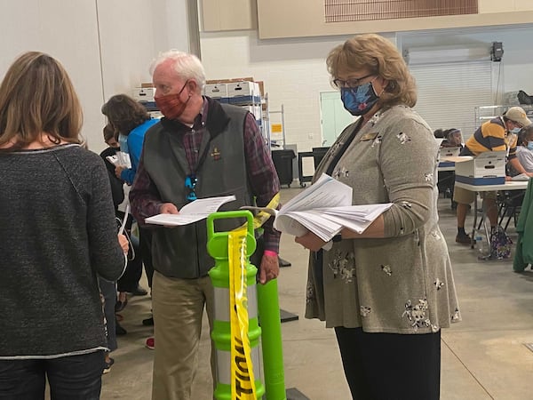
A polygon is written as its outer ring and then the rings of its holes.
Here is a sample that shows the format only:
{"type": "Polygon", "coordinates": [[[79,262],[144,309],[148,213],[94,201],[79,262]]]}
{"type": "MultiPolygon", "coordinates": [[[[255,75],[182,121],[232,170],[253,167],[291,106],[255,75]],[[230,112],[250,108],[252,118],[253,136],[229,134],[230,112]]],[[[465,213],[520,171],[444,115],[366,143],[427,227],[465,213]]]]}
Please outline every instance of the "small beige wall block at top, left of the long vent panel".
{"type": "Polygon", "coordinates": [[[203,30],[243,30],[257,28],[255,0],[203,0],[203,30]]]}

